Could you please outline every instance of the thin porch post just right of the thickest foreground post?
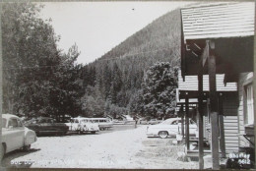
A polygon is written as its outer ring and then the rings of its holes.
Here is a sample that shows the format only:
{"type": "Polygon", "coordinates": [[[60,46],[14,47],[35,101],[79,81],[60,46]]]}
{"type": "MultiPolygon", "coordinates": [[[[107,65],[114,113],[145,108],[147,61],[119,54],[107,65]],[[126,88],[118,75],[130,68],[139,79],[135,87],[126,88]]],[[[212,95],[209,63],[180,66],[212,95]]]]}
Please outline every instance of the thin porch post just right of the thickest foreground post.
{"type": "Polygon", "coordinates": [[[220,124],[220,146],[222,151],[222,157],[225,157],[225,142],[224,142],[224,106],[223,106],[223,93],[219,94],[219,124],[220,124]]]}

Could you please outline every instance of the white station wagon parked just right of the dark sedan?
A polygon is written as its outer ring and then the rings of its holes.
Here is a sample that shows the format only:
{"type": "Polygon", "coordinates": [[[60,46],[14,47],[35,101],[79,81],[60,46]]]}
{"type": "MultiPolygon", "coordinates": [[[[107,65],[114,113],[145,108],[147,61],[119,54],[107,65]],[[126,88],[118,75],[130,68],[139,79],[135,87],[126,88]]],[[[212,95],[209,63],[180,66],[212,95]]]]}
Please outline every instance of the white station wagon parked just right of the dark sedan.
{"type": "Polygon", "coordinates": [[[77,132],[78,134],[92,133],[96,134],[99,131],[97,123],[94,123],[91,118],[77,117],[72,118],[69,123],[66,123],[69,131],[77,132]]]}

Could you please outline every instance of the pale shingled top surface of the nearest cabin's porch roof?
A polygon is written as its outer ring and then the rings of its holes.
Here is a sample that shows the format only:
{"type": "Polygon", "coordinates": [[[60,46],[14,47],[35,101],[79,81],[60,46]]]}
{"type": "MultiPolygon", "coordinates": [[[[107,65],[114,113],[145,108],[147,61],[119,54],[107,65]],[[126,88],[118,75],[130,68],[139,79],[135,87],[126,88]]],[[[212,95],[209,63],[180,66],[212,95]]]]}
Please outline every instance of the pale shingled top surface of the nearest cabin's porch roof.
{"type": "Polygon", "coordinates": [[[181,9],[184,41],[254,35],[252,2],[212,3],[181,9]]]}

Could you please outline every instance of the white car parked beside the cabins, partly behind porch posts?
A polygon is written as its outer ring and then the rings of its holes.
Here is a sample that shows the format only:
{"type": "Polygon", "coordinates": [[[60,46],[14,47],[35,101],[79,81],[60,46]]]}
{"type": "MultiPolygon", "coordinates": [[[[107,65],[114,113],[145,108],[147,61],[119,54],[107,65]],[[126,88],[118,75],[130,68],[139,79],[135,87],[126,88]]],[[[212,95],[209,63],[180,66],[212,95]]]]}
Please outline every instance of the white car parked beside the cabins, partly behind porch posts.
{"type": "MultiPolygon", "coordinates": [[[[185,128],[185,125],[184,125],[185,128]]],[[[185,131],[186,129],[184,129],[185,131]]],[[[195,136],[197,124],[193,120],[189,120],[189,135],[195,136]]],[[[169,118],[160,124],[147,127],[147,137],[175,137],[181,132],[181,118],[169,118]]]]}

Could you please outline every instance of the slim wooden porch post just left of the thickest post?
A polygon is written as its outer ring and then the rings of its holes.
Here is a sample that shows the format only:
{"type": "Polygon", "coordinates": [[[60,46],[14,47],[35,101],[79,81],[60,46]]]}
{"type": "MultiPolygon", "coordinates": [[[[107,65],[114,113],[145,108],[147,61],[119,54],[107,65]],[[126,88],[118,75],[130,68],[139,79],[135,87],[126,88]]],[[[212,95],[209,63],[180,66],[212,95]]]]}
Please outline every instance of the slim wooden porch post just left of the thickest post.
{"type": "MultiPolygon", "coordinates": [[[[201,64],[199,64],[201,65],[201,64]]],[[[198,149],[199,149],[199,169],[204,169],[204,126],[203,126],[203,67],[201,66],[198,73],[198,149]]]]}

